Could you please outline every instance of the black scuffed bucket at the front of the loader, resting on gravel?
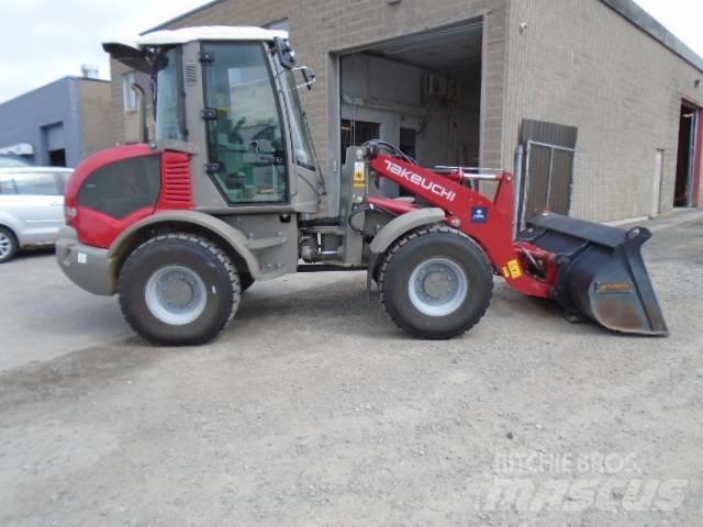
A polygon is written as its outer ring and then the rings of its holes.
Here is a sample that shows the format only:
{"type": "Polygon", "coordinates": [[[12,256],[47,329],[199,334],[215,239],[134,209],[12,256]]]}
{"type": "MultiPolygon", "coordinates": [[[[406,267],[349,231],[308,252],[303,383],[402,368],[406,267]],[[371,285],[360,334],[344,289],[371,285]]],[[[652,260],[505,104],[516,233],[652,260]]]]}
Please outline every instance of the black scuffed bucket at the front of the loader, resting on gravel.
{"type": "Polygon", "coordinates": [[[527,223],[520,240],[557,255],[554,299],[567,318],[590,318],[621,333],[667,336],[641,246],[651,237],[631,231],[544,213],[527,223]]]}

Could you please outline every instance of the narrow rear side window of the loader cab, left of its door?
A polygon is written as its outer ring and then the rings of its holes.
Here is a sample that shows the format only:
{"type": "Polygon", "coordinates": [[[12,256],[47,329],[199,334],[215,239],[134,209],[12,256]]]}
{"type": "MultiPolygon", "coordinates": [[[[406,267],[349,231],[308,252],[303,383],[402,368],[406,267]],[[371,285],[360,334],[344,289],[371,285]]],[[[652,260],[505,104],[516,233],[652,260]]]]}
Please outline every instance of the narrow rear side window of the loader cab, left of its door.
{"type": "Polygon", "coordinates": [[[182,93],[180,56],[177,48],[170,48],[160,55],[153,82],[156,141],[186,141],[180,97],[182,93]]]}

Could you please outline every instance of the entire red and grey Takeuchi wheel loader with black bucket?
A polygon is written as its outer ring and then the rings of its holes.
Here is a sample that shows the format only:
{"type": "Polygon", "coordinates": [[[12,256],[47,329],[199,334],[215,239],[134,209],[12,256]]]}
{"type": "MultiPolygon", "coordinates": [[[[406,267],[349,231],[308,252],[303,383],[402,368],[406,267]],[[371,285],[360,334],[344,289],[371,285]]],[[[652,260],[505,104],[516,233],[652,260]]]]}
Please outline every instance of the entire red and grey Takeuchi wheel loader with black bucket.
{"type": "Polygon", "coordinates": [[[515,237],[513,176],[423,168],[381,142],[323,176],[298,96],[314,74],[286,33],[190,27],[104,48],[150,75],[154,138],[76,169],[56,256],[78,285],[119,294],[152,343],[213,339],[257,280],[341,269],[366,269],[391,319],[419,338],[478,323],[494,276],[571,319],[667,335],[645,228],[544,213],[515,237]],[[494,199],[477,179],[498,183],[494,199]],[[383,180],[410,195],[387,195],[383,180]]]}

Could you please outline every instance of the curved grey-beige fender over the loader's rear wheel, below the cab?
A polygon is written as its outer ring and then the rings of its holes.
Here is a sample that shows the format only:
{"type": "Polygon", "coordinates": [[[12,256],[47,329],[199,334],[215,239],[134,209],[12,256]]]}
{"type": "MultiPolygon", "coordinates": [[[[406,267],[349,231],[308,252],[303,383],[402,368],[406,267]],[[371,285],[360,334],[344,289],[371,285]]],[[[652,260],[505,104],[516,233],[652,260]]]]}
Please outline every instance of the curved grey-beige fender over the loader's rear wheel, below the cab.
{"type": "Polygon", "coordinates": [[[122,234],[120,234],[120,236],[118,236],[118,238],[108,249],[108,257],[119,257],[124,248],[130,244],[133,236],[142,229],[166,223],[194,225],[214,234],[225,244],[227,244],[228,247],[232,248],[244,260],[246,267],[248,268],[247,270],[249,274],[252,274],[255,280],[261,278],[261,268],[259,266],[259,261],[254,253],[249,250],[247,237],[241,231],[227,224],[226,222],[198,211],[164,211],[156,212],[155,214],[145,217],[144,220],[130,226],[130,228],[125,229],[122,234]]]}

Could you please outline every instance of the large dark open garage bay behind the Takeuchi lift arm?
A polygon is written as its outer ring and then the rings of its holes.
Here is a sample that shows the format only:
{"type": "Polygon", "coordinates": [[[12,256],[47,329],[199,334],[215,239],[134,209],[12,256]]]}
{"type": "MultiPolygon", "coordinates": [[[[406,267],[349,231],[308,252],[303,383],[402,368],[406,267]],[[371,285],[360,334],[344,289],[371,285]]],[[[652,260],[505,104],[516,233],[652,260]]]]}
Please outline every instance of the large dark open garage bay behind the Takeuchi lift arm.
{"type": "Polygon", "coordinates": [[[422,166],[479,166],[482,52],[475,19],[341,54],[342,162],[348,146],[377,138],[422,166]]]}

